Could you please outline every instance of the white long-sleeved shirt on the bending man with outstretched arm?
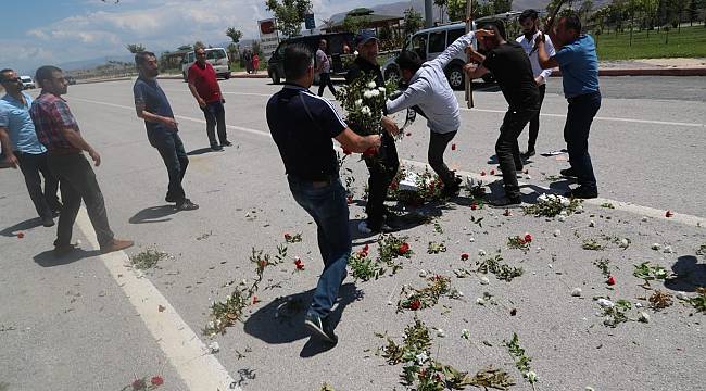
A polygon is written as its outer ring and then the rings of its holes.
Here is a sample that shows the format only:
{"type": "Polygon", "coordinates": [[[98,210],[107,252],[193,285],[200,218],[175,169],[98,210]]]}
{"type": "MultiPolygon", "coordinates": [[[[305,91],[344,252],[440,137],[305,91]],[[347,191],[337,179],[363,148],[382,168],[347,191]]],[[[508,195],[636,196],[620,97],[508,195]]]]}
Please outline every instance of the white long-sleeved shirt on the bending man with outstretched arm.
{"type": "Polygon", "coordinates": [[[474,40],[474,33],[461,36],[438,58],[425,62],[409,80],[409,87],[395,100],[388,101],[388,113],[392,114],[414,105],[427,116],[431,131],[445,134],[458,130],[461,116],[458,100],[449,85],[444,67],[462,53],[474,40]]]}

